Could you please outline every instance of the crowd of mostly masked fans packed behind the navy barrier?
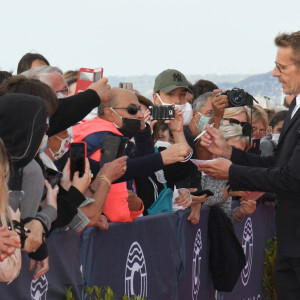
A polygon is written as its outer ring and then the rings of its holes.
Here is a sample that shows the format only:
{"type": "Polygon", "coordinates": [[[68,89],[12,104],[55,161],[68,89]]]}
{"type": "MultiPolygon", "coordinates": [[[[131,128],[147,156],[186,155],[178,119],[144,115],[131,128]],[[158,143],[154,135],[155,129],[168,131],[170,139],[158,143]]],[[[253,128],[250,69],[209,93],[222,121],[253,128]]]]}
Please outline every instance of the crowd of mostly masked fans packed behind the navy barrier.
{"type": "Polygon", "coordinates": [[[167,201],[160,197],[166,188],[172,191],[169,211],[190,207],[192,224],[202,205],[218,205],[232,222],[255,211],[253,193],[231,191],[226,180],[199,172],[193,159],[214,158],[197,139],[206,124],[233,147],[272,155],[286,110],[268,97],[258,99],[260,105],[228,107],[228,96],[214,83],[191,84],[171,69],[156,77],[153,99],[111,88],[106,78],[75,95],[78,71],[63,73],[36,53],[22,57],[17,74],[0,71],[1,281],[18,276],[21,251],[30,257],[34,279],[45,274],[51,232],[131,222],[150,214],[156,201],[167,201]],[[153,120],[152,105],[174,106],[175,118],[153,120]],[[123,156],[100,168],[107,135],[129,142],[123,156]],[[87,145],[85,172],[72,180],[71,142],[87,145]],[[54,187],[45,180],[49,169],[62,172],[54,187]],[[211,196],[201,193],[207,189],[211,196]],[[232,199],[240,201],[235,209],[232,199]]]}

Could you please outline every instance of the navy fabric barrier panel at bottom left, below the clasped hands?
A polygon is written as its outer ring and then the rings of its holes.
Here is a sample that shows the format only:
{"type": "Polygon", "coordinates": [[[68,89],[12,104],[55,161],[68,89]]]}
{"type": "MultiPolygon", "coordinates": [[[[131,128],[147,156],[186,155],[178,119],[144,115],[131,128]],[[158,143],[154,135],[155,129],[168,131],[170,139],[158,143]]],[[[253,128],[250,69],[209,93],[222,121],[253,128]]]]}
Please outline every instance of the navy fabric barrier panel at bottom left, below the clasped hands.
{"type": "Polygon", "coordinates": [[[57,300],[66,299],[65,287],[72,286],[75,299],[81,299],[83,279],[80,273],[80,238],[74,231],[53,232],[47,239],[49,271],[33,280],[29,257],[22,254],[20,275],[9,285],[0,283],[1,299],[57,300]]]}

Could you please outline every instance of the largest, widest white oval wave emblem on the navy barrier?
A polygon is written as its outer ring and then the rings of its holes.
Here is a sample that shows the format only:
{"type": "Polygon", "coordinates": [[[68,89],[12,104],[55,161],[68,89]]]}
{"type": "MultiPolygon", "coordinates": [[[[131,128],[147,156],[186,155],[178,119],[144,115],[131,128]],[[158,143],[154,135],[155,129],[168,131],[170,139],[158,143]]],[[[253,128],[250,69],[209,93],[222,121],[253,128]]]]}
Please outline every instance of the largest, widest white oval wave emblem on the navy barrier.
{"type": "Polygon", "coordinates": [[[125,269],[125,294],[147,297],[147,270],[143,250],[134,242],[128,252],[125,269]]]}

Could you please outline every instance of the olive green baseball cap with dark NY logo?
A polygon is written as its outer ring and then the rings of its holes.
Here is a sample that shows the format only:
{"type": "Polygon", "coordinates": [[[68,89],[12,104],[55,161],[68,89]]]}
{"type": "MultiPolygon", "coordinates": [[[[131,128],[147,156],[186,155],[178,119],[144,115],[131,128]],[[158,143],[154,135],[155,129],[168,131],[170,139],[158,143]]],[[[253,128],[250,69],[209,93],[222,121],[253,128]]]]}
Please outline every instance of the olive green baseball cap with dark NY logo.
{"type": "Polygon", "coordinates": [[[174,69],[167,69],[157,75],[154,82],[154,92],[163,91],[164,93],[169,93],[177,88],[185,88],[190,93],[192,91],[189,89],[188,81],[185,76],[174,69]]]}

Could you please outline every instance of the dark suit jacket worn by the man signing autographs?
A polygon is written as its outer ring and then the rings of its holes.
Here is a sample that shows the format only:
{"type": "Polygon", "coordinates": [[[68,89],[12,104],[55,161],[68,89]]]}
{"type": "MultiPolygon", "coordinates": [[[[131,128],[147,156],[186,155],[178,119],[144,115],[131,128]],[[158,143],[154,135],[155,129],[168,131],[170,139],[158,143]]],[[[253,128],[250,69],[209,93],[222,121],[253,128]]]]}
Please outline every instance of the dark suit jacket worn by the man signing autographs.
{"type": "Polygon", "coordinates": [[[276,230],[279,254],[300,257],[300,109],[296,99],[284,120],[276,153],[259,157],[233,149],[229,182],[234,190],[277,194],[276,230]]]}

